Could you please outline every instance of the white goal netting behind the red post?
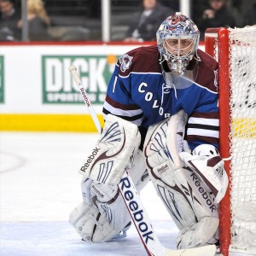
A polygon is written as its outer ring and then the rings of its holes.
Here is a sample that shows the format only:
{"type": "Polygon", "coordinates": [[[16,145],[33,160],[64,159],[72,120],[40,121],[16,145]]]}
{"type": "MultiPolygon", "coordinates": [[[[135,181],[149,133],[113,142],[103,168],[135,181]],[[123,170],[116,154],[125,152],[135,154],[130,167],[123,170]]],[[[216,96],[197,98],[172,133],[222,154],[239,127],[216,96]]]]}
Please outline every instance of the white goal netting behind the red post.
{"type": "Polygon", "coordinates": [[[256,254],[256,26],[230,29],[230,250],[256,254]]]}

